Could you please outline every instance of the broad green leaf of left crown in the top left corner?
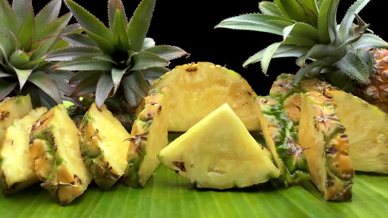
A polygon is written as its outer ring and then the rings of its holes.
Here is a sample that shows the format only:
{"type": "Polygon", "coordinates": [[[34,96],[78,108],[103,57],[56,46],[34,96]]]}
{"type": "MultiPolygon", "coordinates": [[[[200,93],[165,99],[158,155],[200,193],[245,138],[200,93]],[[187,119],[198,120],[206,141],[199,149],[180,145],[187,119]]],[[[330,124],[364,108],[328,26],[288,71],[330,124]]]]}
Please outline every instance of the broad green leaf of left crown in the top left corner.
{"type": "Polygon", "coordinates": [[[0,32],[10,30],[17,33],[19,30],[16,15],[7,0],[0,0],[0,32]]]}

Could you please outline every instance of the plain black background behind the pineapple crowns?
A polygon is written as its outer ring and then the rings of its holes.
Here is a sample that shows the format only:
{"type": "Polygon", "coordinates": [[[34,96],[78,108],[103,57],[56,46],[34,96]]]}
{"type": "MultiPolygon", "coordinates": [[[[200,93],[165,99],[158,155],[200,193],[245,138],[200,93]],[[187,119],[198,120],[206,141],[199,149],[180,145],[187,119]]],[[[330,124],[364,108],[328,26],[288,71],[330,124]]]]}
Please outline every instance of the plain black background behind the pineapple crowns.
{"type": "MultiPolygon", "coordinates": [[[[35,13],[49,0],[33,0],[35,13]]],[[[107,0],[75,0],[106,25],[108,23],[107,0]]],[[[122,0],[126,14],[133,14],[140,0],[122,0]]],[[[248,80],[257,94],[268,94],[272,82],[280,73],[295,73],[295,59],[275,59],[271,62],[268,75],[264,76],[260,64],[243,68],[243,62],[269,44],[281,41],[282,37],[254,31],[214,29],[221,20],[244,13],[259,12],[260,0],[158,0],[148,37],[157,44],[176,45],[191,53],[188,59],[172,61],[170,68],[185,63],[207,61],[226,66],[248,80]]],[[[341,22],[346,10],[354,0],[342,0],[337,21],[341,22]]],[[[386,10],[388,1],[372,0],[359,14],[370,23],[370,29],[385,40],[386,10]]],[[[63,5],[61,14],[68,12],[63,5]]],[[[72,22],[75,22],[73,19],[72,22]]]]}

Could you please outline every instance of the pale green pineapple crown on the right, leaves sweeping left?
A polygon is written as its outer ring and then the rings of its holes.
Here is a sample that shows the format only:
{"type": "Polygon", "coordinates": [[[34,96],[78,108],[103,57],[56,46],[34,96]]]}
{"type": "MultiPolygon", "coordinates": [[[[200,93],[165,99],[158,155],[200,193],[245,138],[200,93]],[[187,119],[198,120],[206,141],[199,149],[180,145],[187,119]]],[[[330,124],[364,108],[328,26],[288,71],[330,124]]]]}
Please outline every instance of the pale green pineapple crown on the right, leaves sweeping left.
{"type": "Polygon", "coordinates": [[[261,13],[228,18],[216,28],[268,32],[283,37],[250,57],[244,67],[261,62],[266,74],[271,59],[297,57],[301,67],[295,78],[324,74],[334,85],[345,87],[352,80],[369,84],[374,73],[374,59],[367,49],[387,48],[388,43],[368,31],[357,14],[370,0],[358,0],[337,25],[340,0],[274,0],[261,2],[261,13]],[[354,24],[354,19],[357,24],[354,24]],[[311,63],[307,64],[306,61],[311,63]]]}

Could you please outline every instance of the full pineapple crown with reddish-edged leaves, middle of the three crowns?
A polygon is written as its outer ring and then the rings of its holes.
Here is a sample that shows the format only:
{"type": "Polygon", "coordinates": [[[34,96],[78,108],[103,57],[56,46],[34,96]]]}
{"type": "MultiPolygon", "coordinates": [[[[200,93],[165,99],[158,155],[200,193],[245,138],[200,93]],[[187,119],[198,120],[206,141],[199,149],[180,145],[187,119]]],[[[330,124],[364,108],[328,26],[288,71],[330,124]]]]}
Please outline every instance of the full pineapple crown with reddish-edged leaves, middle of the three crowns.
{"type": "Polygon", "coordinates": [[[109,0],[109,28],[75,2],[64,2],[86,35],[63,36],[70,46],[50,53],[46,60],[60,61],[52,70],[79,71],[70,79],[75,85],[72,97],[95,92],[101,108],[108,96],[120,93],[134,107],[147,96],[151,81],[169,71],[164,67],[170,60],[188,55],[176,46],[156,46],[146,37],[156,0],[141,1],[129,22],[122,2],[109,0]]]}

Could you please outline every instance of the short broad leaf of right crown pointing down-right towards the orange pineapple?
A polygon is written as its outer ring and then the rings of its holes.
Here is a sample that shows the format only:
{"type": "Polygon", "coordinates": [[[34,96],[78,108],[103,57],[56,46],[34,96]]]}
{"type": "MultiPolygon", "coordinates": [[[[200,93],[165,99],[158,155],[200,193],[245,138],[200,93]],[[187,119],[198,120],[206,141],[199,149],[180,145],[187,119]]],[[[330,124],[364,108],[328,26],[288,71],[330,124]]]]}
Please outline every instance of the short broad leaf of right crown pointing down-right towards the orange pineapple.
{"type": "Polygon", "coordinates": [[[359,83],[369,84],[369,72],[362,59],[354,51],[349,51],[344,58],[334,64],[348,77],[357,80],[359,83]]]}

